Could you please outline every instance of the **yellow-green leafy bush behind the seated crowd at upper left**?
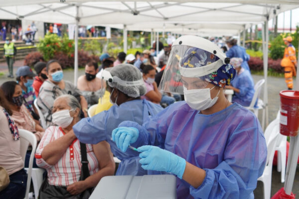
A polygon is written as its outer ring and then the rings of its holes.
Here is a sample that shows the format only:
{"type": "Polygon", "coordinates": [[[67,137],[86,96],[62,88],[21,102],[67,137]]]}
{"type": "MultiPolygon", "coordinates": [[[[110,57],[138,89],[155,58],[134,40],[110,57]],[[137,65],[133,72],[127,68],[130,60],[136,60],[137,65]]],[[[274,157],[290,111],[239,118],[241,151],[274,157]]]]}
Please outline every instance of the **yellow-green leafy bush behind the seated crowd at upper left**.
{"type": "Polygon", "coordinates": [[[38,51],[42,54],[45,61],[53,59],[55,53],[61,51],[61,38],[56,34],[46,34],[37,45],[38,51]]]}

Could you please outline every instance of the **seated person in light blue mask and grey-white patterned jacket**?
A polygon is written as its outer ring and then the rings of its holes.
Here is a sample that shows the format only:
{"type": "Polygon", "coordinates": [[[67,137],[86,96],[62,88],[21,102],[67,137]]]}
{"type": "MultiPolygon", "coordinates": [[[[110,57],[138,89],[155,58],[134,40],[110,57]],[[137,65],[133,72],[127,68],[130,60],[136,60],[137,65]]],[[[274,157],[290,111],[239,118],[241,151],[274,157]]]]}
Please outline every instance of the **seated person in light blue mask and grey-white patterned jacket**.
{"type": "Polygon", "coordinates": [[[51,110],[54,100],[64,94],[71,94],[80,100],[84,115],[87,117],[87,101],[71,82],[63,80],[62,67],[59,62],[57,60],[48,61],[46,70],[48,79],[43,82],[39,89],[37,105],[41,108],[47,126],[51,125],[51,110]]]}

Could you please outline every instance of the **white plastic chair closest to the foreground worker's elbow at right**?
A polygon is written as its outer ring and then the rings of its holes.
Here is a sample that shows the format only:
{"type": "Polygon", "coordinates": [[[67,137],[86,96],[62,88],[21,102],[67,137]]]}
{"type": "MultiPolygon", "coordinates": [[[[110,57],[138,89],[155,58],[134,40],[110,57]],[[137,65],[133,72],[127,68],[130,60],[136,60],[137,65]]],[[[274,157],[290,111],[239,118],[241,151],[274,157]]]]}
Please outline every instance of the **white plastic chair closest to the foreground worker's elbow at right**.
{"type": "Polygon", "coordinates": [[[267,144],[267,161],[263,175],[258,179],[264,184],[264,199],[270,199],[271,196],[271,180],[272,180],[272,164],[275,153],[275,147],[279,137],[279,120],[273,120],[265,131],[265,139],[267,144]]]}

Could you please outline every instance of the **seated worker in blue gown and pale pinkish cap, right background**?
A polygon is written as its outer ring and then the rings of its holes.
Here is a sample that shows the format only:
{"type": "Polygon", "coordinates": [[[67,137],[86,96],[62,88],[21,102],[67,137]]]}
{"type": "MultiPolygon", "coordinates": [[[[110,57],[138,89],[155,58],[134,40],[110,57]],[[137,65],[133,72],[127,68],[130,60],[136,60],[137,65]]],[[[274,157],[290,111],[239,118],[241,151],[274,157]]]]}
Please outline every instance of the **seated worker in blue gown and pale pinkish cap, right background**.
{"type": "Polygon", "coordinates": [[[235,67],[237,75],[231,85],[225,88],[234,90],[233,102],[242,106],[249,106],[255,92],[254,83],[250,72],[241,67],[242,62],[242,58],[234,57],[231,59],[230,63],[235,67]]]}

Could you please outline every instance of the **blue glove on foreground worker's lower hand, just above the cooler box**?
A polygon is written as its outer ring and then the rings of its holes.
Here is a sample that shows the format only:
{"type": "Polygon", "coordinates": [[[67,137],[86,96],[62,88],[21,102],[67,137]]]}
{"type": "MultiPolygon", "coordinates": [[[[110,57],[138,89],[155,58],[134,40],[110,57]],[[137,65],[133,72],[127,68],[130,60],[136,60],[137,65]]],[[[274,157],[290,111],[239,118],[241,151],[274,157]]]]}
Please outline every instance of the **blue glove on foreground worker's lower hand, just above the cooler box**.
{"type": "Polygon", "coordinates": [[[142,152],[139,154],[139,163],[143,169],[165,171],[182,179],[186,167],[185,159],[156,146],[141,146],[137,150],[142,152]]]}

